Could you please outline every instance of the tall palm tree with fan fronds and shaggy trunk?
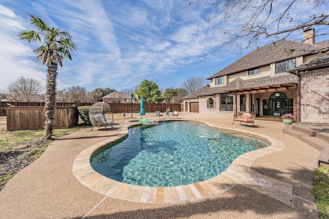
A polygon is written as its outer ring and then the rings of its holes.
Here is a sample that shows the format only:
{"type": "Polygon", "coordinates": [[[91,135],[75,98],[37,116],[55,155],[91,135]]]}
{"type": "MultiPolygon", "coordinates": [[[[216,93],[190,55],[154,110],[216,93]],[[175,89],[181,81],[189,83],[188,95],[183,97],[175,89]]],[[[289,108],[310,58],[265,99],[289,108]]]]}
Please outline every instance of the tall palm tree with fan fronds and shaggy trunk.
{"type": "Polygon", "coordinates": [[[40,35],[43,36],[44,43],[41,47],[33,52],[37,55],[36,61],[47,66],[47,86],[46,86],[46,103],[45,103],[45,138],[51,139],[52,127],[54,125],[54,106],[56,104],[56,78],[58,64],[62,67],[62,61],[65,58],[72,60],[70,52],[77,49],[77,46],[71,41],[71,36],[68,32],[60,31],[55,27],[50,27],[42,19],[37,16],[30,15],[31,24],[34,24],[39,32],[34,30],[22,31],[18,36],[27,41],[41,42],[40,35]]]}

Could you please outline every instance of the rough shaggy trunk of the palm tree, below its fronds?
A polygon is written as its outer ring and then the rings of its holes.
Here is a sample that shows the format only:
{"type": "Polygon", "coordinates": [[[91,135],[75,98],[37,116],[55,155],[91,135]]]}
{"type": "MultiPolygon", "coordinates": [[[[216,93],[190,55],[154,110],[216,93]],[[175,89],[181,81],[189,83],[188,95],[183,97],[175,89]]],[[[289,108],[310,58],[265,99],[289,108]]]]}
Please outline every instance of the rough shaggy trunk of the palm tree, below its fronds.
{"type": "Polygon", "coordinates": [[[51,139],[52,126],[55,124],[53,120],[56,104],[56,78],[57,78],[57,64],[51,63],[47,69],[47,91],[46,91],[46,103],[45,103],[45,138],[51,139]]]}

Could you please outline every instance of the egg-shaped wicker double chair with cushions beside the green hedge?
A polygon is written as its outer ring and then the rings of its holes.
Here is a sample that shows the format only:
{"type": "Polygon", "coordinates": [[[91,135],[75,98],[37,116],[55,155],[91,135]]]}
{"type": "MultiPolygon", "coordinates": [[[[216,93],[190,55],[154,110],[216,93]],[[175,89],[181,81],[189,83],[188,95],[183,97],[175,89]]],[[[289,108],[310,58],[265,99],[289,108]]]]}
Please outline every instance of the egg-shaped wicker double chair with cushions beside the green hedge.
{"type": "MultiPolygon", "coordinates": [[[[92,123],[93,128],[97,126],[98,128],[100,126],[105,126],[105,129],[107,130],[107,126],[112,126],[112,123],[114,122],[113,112],[111,107],[106,102],[98,102],[90,107],[89,109],[89,120],[90,123],[92,123]]],[[[93,131],[92,130],[90,131],[93,131]]]]}

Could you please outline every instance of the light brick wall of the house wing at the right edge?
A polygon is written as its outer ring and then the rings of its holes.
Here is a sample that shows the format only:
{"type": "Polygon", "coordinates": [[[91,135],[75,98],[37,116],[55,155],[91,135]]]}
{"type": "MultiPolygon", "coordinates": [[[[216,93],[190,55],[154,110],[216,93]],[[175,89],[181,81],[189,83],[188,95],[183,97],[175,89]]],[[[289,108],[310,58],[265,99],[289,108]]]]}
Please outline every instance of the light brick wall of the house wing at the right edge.
{"type": "Polygon", "coordinates": [[[329,123],[329,68],[301,72],[301,122],[329,123]]]}

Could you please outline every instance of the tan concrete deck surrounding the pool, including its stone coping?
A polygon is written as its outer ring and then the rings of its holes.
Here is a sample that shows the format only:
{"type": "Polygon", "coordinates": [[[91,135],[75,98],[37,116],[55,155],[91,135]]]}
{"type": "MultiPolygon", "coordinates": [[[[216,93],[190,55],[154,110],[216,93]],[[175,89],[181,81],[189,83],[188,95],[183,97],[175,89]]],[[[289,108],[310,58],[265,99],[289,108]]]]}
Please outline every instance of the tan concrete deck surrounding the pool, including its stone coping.
{"type": "Polygon", "coordinates": [[[256,134],[272,144],[240,156],[205,182],[139,187],[112,181],[88,165],[90,154],[122,137],[130,123],[120,121],[107,131],[84,128],[52,142],[7,183],[0,192],[0,218],[318,218],[310,191],[321,151],[283,133],[282,122],[256,120],[255,127],[245,128],[232,125],[232,118],[184,112],[179,117],[256,134]]]}

